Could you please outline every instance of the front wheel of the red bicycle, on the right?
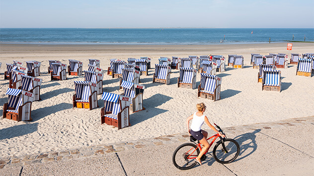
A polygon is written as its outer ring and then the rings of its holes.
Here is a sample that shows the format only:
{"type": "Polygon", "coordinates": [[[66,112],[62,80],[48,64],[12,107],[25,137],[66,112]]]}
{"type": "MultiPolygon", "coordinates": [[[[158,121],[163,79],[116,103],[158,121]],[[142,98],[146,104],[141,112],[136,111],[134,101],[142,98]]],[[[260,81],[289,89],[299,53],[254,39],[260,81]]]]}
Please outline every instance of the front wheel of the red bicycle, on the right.
{"type": "Polygon", "coordinates": [[[225,139],[224,144],[228,153],[223,148],[222,141],[219,141],[213,150],[214,158],[218,163],[231,163],[235,161],[236,157],[239,155],[240,146],[233,139],[225,139]]]}

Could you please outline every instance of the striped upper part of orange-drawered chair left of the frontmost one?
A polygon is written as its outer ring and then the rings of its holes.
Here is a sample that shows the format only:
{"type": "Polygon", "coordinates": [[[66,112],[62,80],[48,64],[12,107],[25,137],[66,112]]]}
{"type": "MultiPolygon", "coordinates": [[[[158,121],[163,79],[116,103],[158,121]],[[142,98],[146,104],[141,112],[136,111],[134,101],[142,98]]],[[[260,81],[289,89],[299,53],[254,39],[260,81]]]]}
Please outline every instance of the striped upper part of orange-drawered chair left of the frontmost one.
{"type": "Polygon", "coordinates": [[[89,96],[97,90],[97,84],[89,81],[74,81],[77,102],[89,102],[89,96]]]}

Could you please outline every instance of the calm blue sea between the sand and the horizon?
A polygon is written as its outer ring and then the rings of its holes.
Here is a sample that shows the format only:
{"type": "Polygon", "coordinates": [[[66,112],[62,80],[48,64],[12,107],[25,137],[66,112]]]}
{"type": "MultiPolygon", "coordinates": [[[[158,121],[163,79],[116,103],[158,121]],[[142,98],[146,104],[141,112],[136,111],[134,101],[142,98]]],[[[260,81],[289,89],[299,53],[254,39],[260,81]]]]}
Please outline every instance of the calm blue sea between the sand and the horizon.
{"type": "Polygon", "coordinates": [[[314,29],[77,29],[0,28],[0,43],[208,45],[314,41],[314,29]]]}

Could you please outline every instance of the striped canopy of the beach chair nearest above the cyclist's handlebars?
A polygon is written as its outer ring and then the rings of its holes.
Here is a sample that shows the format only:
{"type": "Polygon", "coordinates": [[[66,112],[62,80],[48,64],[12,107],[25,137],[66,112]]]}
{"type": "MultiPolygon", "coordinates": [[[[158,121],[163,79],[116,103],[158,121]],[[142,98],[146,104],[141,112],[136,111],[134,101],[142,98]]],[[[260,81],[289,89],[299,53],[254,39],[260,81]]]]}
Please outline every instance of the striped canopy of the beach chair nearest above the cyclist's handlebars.
{"type": "Polygon", "coordinates": [[[216,80],[221,81],[221,78],[216,75],[201,73],[201,92],[214,94],[216,88],[216,80]]]}

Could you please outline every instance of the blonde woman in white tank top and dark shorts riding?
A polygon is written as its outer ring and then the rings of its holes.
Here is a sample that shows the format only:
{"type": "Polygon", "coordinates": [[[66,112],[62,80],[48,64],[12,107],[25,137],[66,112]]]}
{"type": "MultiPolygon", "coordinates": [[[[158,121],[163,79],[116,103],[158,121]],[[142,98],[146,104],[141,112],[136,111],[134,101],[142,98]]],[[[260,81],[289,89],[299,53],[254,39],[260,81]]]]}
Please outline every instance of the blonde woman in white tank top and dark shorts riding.
{"type": "Polygon", "coordinates": [[[194,113],[192,116],[188,117],[186,119],[186,126],[187,126],[187,130],[189,135],[192,135],[193,137],[195,137],[198,141],[200,141],[200,143],[203,145],[203,148],[200,152],[200,154],[196,157],[195,161],[202,165],[201,163],[201,157],[203,156],[203,154],[207,151],[207,149],[209,148],[209,143],[206,140],[207,139],[207,135],[208,133],[204,130],[201,129],[201,126],[203,125],[204,121],[206,122],[206,124],[212,128],[212,130],[214,130],[215,132],[217,132],[218,134],[220,134],[221,137],[226,137],[224,134],[221,134],[209,121],[208,118],[204,115],[204,112],[206,110],[206,106],[204,103],[200,103],[196,105],[196,109],[198,112],[194,113]],[[190,120],[192,120],[192,124],[191,124],[191,129],[190,129],[190,120]]]}

